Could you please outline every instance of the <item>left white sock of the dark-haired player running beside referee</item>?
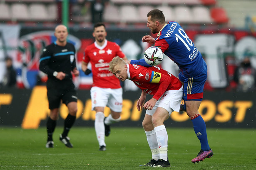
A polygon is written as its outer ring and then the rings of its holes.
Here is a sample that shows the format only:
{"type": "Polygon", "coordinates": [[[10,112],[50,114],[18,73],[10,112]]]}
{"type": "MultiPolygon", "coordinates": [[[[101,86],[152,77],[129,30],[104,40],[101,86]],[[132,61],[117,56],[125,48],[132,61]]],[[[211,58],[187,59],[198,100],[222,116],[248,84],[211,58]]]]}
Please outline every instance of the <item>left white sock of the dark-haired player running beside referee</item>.
{"type": "Polygon", "coordinates": [[[97,112],[95,115],[94,127],[96,131],[96,136],[99,142],[99,146],[106,146],[105,143],[105,126],[104,126],[104,113],[97,112]]]}

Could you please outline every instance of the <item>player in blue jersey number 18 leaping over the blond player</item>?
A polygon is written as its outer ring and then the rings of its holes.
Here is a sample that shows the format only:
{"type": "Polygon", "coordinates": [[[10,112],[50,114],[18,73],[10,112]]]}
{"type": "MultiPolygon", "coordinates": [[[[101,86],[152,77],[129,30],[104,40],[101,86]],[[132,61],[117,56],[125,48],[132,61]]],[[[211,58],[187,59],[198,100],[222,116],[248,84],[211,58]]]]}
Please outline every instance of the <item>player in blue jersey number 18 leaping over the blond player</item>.
{"type": "MultiPolygon", "coordinates": [[[[153,34],[158,34],[156,39],[149,35],[143,36],[142,41],[159,47],[181,70],[178,78],[184,84],[185,101],[185,104],[181,105],[181,111],[186,111],[188,114],[201,143],[201,151],[196,158],[191,160],[192,163],[199,163],[213,155],[208,144],[204,119],[198,112],[207,78],[206,63],[194,43],[177,22],[166,23],[163,12],[157,9],[150,11],[147,17],[147,27],[153,34]]],[[[144,59],[131,60],[129,63],[149,66],[144,59]]]]}

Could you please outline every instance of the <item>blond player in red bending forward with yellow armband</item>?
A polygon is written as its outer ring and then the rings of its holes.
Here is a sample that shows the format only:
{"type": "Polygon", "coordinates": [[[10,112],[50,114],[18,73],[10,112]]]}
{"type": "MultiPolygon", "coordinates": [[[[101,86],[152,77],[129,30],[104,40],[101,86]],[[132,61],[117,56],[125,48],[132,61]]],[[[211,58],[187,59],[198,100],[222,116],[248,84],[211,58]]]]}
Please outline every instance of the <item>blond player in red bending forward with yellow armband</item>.
{"type": "Polygon", "coordinates": [[[140,166],[169,167],[168,135],[164,120],[171,112],[179,112],[183,96],[181,82],[159,67],[146,68],[136,64],[126,64],[119,57],[113,58],[109,63],[109,70],[119,80],[132,80],[142,90],[137,109],[147,109],[142,126],[152,152],[152,159],[149,163],[140,166]],[[147,94],[153,97],[143,105],[147,94]]]}

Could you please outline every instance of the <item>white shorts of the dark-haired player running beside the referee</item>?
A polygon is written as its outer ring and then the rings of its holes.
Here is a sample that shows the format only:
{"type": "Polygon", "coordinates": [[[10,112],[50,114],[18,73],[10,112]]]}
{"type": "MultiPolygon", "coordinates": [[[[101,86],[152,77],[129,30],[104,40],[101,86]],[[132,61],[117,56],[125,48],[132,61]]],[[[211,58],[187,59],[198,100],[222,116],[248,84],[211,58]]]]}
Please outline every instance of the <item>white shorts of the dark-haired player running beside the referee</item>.
{"type": "Polygon", "coordinates": [[[122,88],[91,88],[92,110],[95,107],[109,107],[114,112],[122,112],[123,90],[122,88]]]}

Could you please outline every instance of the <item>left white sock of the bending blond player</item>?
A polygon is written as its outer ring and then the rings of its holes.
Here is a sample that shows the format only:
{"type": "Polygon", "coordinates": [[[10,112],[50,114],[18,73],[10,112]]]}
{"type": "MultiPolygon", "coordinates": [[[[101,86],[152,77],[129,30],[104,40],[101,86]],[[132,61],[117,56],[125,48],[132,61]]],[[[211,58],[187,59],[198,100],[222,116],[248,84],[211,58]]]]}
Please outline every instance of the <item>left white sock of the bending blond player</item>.
{"type": "Polygon", "coordinates": [[[157,135],[155,130],[152,131],[145,131],[147,136],[147,143],[149,143],[149,148],[152,153],[152,159],[159,160],[160,151],[157,143],[157,135]]]}

